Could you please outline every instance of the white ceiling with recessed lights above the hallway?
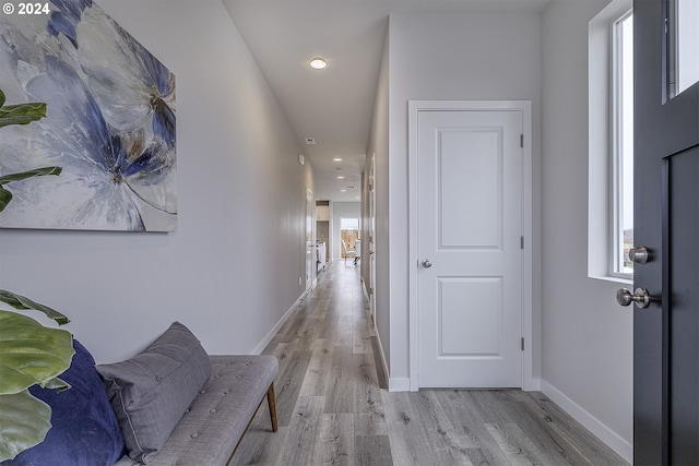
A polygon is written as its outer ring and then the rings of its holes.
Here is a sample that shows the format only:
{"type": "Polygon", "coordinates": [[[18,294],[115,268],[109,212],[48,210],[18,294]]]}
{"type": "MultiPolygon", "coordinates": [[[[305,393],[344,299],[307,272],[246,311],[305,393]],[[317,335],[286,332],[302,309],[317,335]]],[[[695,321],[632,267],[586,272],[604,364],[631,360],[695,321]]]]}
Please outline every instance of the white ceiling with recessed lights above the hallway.
{"type": "Polygon", "coordinates": [[[531,12],[547,2],[223,0],[312,163],[316,198],[350,202],[362,193],[389,14],[531,12]],[[316,57],[328,68],[311,69],[316,57]],[[316,143],[307,144],[307,138],[316,143]]]}

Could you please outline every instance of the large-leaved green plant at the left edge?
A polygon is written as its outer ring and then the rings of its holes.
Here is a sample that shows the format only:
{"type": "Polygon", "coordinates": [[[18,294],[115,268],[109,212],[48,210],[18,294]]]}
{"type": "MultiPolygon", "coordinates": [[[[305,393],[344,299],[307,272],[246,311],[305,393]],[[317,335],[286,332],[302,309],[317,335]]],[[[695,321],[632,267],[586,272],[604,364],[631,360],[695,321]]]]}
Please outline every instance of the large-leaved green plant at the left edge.
{"type": "MultiPolygon", "coordinates": [[[[4,103],[0,89],[0,128],[28,124],[46,117],[46,104],[5,106],[4,103]]],[[[44,167],[0,176],[0,212],[12,200],[7,183],[60,172],[60,167],[44,167]]],[[[58,325],[70,322],[60,312],[12,291],[0,289],[0,301],[16,310],[39,311],[58,325]]],[[[0,310],[0,462],[44,441],[51,428],[51,408],[28,389],[37,384],[58,391],[70,389],[58,377],[70,367],[73,354],[69,332],[46,327],[14,311],[0,310]]]]}

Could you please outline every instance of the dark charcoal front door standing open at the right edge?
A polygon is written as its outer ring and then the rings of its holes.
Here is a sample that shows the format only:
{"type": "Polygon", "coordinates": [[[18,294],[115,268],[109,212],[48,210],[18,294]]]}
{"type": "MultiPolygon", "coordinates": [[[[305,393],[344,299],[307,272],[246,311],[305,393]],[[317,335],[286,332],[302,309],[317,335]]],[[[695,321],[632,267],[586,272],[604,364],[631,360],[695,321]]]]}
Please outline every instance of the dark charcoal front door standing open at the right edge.
{"type": "Polygon", "coordinates": [[[676,91],[677,1],[633,3],[635,242],[650,251],[633,280],[651,296],[633,311],[633,454],[649,465],[699,465],[699,86],[676,91]]]}

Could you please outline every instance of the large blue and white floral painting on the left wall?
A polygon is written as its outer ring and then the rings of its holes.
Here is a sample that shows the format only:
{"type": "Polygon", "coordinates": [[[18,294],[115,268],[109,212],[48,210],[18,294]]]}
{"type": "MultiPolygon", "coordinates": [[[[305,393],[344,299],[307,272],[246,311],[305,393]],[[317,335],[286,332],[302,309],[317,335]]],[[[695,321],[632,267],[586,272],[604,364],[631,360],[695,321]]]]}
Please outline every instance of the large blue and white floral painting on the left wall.
{"type": "Polygon", "coordinates": [[[0,14],[0,88],[47,117],[0,131],[13,182],[10,228],[173,231],[177,224],[175,76],[92,0],[0,14]]]}

